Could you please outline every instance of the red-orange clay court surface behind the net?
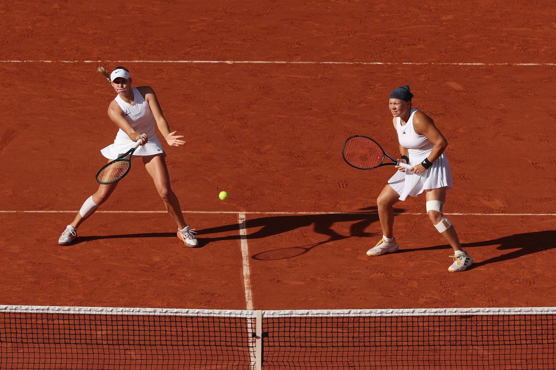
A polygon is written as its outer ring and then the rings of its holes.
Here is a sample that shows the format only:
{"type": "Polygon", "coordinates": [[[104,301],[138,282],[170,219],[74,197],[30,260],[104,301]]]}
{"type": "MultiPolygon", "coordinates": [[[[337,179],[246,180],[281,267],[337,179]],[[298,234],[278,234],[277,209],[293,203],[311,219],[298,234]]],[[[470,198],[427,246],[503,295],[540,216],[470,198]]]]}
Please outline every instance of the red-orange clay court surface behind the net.
{"type": "MultiPolygon", "coordinates": [[[[556,306],[552,2],[112,5],[0,6],[0,303],[245,309],[247,246],[255,309],[556,306]],[[117,131],[95,69],[120,64],[186,136],[167,163],[202,248],[165,213],[99,212],[57,244],[117,131]],[[386,103],[403,84],[450,143],[464,273],[447,271],[423,196],[396,204],[400,251],[365,256],[391,170],[347,166],[341,144],[366,134],[397,153],[386,103]],[[269,259],[291,247],[307,250],[269,259]]],[[[162,210],[140,161],[100,208],[162,210]]]]}

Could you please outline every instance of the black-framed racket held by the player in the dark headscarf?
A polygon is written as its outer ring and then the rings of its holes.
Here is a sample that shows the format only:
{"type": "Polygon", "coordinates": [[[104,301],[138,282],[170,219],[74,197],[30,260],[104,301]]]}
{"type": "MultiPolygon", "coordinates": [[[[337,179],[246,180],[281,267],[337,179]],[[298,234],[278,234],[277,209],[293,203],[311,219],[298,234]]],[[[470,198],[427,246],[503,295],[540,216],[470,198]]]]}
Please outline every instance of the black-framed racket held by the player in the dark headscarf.
{"type": "Polygon", "coordinates": [[[342,158],[351,167],[358,169],[373,169],[381,166],[401,166],[407,169],[412,167],[404,162],[396,161],[384,151],[379,143],[362,135],[347,138],[342,147],[342,158]],[[385,158],[389,158],[392,162],[384,163],[385,158]]]}

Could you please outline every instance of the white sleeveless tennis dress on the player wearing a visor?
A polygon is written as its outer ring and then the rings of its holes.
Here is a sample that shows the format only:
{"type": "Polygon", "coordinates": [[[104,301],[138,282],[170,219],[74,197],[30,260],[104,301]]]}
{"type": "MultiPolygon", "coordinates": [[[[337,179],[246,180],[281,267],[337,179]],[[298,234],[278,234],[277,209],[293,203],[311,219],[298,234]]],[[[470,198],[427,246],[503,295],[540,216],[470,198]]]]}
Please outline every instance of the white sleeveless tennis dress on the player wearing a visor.
{"type": "MultiPolygon", "coordinates": [[[[119,95],[116,96],[115,101],[122,108],[123,114],[126,115],[126,121],[131,124],[131,127],[139,134],[147,134],[147,143],[137,147],[133,156],[152,156],[153,154],[163,153],[163,156],[166,157],[166,152],[162,149],[162,144],[158,141],[155,133],[155,116],[152,114],[151,107],[148,106],[137,88],[132,88],[132,91],[132,104],[124,102],[119,95]]],[[[134,146],[135,142],[120,128],[114,143],[101,149],[101,153],[108,159],[116,159],[120,154],[126,153],[134,146]]]]}

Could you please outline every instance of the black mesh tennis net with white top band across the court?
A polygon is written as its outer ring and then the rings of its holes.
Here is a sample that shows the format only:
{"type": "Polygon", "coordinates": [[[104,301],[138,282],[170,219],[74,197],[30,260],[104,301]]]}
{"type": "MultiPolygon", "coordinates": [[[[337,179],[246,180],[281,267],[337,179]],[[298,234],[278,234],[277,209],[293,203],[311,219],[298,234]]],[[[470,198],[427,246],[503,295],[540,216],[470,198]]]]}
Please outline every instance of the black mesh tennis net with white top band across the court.
{"type": "Polygon", "coordinates": [[[555,314],[0,306],[0,369],[554,369],[555,314]]]}

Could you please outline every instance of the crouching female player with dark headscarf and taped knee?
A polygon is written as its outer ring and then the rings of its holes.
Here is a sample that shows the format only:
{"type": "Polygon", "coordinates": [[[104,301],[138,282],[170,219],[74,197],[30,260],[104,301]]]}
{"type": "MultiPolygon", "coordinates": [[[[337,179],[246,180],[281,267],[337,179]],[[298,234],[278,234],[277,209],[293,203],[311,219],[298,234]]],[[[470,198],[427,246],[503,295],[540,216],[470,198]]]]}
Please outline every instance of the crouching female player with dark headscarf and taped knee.
{"type": "Polygon", "coordinates": [[[473,259],[461,249],[454,226],[444,216],[446,191],[453,187],[448,159],[444,153],[448,142],[429,116],[411,106],[411,98],[413,94],[408,85],[395,88],[390,94],[388,104],[400,144],[401,158],[398,161],[412,167],[405,169],[396,166],[398,172],[388,180],[376,199],[383,237],[367,251],[367,255],[381,256],[398,250],[393,231],[394,204],[424,192],[430,221],[454,249],[454,255],[450,256],[454,263],[448,271],[464,271],[471,266],[473,259]]]}

